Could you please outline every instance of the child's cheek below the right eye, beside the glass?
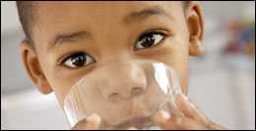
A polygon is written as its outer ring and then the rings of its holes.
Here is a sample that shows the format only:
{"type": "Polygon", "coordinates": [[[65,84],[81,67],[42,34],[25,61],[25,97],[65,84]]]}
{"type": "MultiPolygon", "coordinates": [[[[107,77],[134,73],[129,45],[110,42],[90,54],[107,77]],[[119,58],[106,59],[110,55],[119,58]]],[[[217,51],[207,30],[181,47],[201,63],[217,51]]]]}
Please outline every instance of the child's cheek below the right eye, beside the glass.
{"type": "Polygon", "coordinates": [[[186,35],[175,35],[166,39],[164,46],[148,56],[149,59],[171,66],[177,72],[184,94],[187,92],[188,85],[188,42],[186,35]]]}

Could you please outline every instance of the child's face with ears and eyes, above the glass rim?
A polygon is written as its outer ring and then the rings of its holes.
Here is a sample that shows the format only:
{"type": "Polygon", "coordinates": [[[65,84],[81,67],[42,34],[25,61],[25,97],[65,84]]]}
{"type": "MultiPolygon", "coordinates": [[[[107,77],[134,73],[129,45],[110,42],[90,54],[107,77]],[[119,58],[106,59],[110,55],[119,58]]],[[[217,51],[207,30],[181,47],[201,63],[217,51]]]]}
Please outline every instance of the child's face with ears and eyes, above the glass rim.
{"type": "Polygon", "coordinates": [[[35,50],[22,45],[29,74],[42,93],[53,90],[62,105],[70,87],[97,67],[136,59],[173,67],[186,93],[189,54],[202,52],[197,4],[185,14],[181,2],[52,3],[36,5],[35,50]]]}

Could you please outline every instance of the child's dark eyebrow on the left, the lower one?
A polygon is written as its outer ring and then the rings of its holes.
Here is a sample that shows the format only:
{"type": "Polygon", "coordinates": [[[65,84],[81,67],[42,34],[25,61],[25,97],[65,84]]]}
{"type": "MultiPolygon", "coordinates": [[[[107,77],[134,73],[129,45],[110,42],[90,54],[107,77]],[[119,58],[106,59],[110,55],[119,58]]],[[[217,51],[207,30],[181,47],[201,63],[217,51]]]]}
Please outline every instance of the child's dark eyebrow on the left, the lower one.
{"type": "Polygon", "coordinates": [[[70,42],[75,39],[80,39],[89,36],[90,33],[87,31],[75,31],[75,32],[58,32],[50,40],[48,50],[56,45],[61,45],[65,42],[70,42]]]}

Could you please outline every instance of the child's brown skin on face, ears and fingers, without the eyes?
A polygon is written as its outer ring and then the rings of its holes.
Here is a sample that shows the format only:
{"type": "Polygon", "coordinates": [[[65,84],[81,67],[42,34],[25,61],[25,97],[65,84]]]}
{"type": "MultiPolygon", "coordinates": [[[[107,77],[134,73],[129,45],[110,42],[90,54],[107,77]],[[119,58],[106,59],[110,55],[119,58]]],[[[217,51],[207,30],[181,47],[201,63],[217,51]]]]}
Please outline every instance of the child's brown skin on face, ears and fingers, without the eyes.
{"type": "MultiPolygon", "coordinates": [[[[178,74],[182,93],[187,94],[188,57],[204,53],[204,20],[197,3],[190,2],[185,10],[181,2],[51,2],[35,6],[38,15],[32,26],[33,47],[27,40],[22,42],[23,62],[38,90],[43,94],[54,91],[61,107],[69,88],[77,80],[115,60],[120,63],[123,60],[155,60],[171,66],[178,74]],[[164,13],[144,17],[137,15],[127,19],[132,13],[156,7],[164,13]],[[149,29],[163,31],[166,34],[164,40],[158,46],[133,50],[142,32],[149,29]],[[57,44],[53,44],[58,34],[63,36],[74,32],[87,33],[71,38],[61,37],[57,44]],[[63,56],[74,52],[85,52],[96,63],[79,68],[60,64],[59,60],[63,60],[63,56]]],[[[125,67],[124,70],[131,69],[131,66],[125,67]]],[[[110,73],[105,80],[111,80],[111,75],[114,74],[110,73]]],[[[141,85],[139,74],[129,77],[133,75],[131,71],[124,71],[123,75],[131,78],[128,86],[141,85]]],[[[118,81],[113,82],[113,85],[118,84],[118,81]]],[[[119,90],[110,90],[111,87],[102,93],[105,99],[112,93],[122,97],[119,90]]],[[[129,90],[125,93],[130,94],[129,90]]],[[[154,120],[156,124],[163,129],[222,129],[184,98],[181,95],[176,99],[184,116],[172,117],[170,120],[167,117],[169,112],[160,111],[154,120]],[[188,118],[190,122],[179,120],[188,118]],[[173,119],[179,122],[173,124],[173,119]]],[[[97,129],[99,123],[100,116],[95,114],[74,129],[97,129]]]]}

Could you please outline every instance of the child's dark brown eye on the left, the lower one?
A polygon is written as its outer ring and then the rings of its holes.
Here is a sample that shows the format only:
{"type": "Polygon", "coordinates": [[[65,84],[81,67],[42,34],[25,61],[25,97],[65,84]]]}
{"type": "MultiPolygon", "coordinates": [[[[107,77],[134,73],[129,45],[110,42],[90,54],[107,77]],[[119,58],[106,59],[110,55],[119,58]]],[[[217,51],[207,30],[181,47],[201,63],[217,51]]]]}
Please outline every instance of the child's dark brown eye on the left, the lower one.
{"type": "Polygon", "coordinates": [[[95,59],[85,53],[76,53],[64,60],[64,66],[78,68],[95,63],[95,59]]]}

